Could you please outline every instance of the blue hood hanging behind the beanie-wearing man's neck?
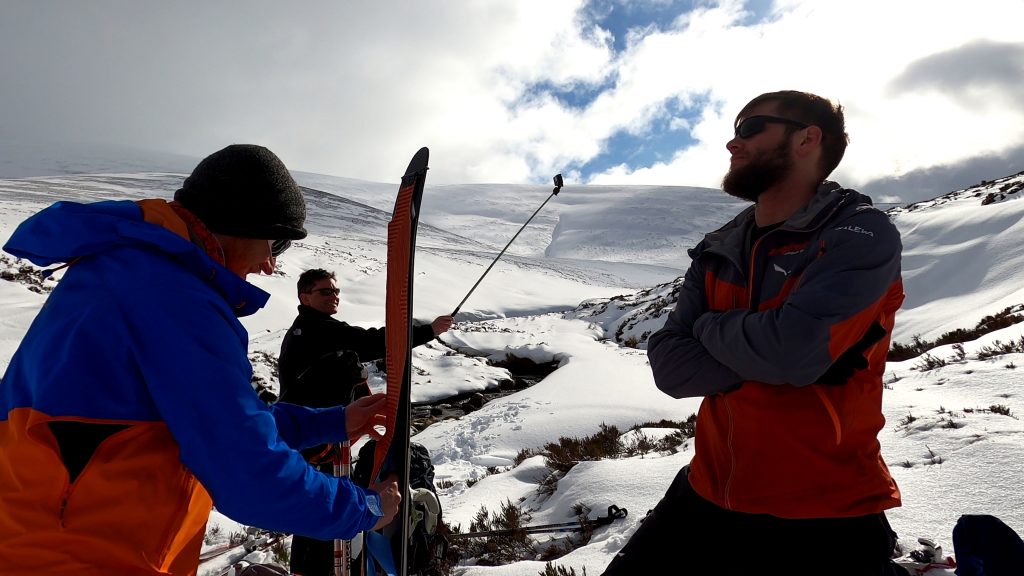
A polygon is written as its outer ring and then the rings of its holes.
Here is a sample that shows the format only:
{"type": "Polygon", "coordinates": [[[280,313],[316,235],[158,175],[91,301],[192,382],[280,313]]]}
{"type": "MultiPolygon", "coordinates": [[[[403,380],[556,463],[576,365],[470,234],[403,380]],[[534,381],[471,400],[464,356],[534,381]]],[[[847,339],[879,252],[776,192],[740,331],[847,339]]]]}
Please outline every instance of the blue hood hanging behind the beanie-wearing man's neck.
{"type": "Polygon", "coordinates": [[[57,202],[22,222],[3,246],[5,252],[40,266],[74,263],[125,248],[158,251],[173,258],[206,280],[240,317],[263,307],[270,297],[214,261],[199,246],[146,222],[138,204],[128,200],[57,202]]]}

